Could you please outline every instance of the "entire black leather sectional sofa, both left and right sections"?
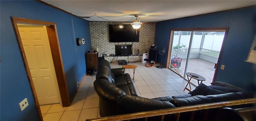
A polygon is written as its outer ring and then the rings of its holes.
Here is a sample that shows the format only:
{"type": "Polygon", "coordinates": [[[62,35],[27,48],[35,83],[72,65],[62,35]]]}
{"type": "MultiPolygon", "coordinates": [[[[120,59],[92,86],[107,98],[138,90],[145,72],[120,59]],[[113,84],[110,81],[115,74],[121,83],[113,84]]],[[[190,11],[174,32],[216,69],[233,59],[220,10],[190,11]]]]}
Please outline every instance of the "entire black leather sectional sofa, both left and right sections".
{"type": "Polygon", "coordinates": [[[106,60],[99,62],[94,89],[99,95],[101,117],[249,98],[243,90],[203,83],[186,95],[154,99],[140,97],[125,69],[111,69],[106,60]]]}

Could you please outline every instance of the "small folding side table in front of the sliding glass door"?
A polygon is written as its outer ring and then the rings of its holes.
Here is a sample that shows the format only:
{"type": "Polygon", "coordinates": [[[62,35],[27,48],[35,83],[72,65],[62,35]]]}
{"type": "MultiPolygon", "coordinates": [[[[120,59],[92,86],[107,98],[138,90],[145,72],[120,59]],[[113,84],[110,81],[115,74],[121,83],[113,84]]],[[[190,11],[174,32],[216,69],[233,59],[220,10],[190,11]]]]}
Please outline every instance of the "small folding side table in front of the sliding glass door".
{"type": "MultiPolygon", "coordinates": [[[[198,85],[206,80],[204,77],[202,77],[201,75],[198,75],[196,73],[187,72],[186,75],[188,77],[188,83],[187,83],[185,89],[187,89],[188,91],[191,91],[190,80],[192,78],[197,80],[198,85]],[[199,81],[201,81],[201,82],[199,83],[199,81]],[[188,84],[189,84],[190,89],[187,88],[188,84]]],[[[183,91],[185,91],[185,89],[183,91]]]]}

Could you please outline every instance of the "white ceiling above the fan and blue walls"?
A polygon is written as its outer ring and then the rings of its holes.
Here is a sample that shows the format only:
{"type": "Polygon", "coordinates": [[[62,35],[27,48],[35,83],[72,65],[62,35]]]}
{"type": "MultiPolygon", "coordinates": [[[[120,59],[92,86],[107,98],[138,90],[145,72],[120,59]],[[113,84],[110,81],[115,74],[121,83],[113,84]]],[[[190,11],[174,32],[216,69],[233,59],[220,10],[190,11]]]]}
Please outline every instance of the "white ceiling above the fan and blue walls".
{"type": "Polygon", "coordinates": [[[160,22],[256,5],[256,0],[42,0],[90,22],[160,22]],[[96,16],[95,16],[96,15],[96,16]],[[98,16],[98,17],[97,17],[98,16]],[[102,19],[103,18],[103,19],[102,19]]]}

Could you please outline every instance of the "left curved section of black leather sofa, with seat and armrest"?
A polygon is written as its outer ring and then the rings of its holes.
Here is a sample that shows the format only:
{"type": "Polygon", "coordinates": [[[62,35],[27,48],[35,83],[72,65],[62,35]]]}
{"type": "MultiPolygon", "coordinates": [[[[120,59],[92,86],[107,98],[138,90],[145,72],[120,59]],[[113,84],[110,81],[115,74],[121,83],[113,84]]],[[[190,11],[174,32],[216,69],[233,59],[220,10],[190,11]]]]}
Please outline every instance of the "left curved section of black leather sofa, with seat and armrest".
{"type": "Polygon", "coordinates": [[[111,69],[106,60],[101,60],[98,65],[94,89],[99,95],[101,117],[175,107],[166,102],[171,97],[158,100],[138,96],[124,68],[111,69]]]}

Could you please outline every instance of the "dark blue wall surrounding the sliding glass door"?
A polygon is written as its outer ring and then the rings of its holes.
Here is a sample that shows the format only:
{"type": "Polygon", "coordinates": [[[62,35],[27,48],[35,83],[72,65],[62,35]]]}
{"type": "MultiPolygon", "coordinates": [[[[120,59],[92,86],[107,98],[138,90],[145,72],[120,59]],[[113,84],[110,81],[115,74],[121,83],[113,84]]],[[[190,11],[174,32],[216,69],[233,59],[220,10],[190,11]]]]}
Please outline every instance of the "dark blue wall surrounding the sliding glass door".
{"type": "MultiPolygon", "coordinates": [[[[172,29],[216,27],[228,27],[229,30],[220,56],[220,65],[225,65],[225,69],[218,67],[215,81],[223,81],[243,89],[251,88],[256,74],[253,64],[244,60],[256,34],[256,6],[157,22],[155,44],[158,48],[168,48],[172,29]]],[[[167,56],[163,56],[162,61],[166,60],[167,56]]]]}

